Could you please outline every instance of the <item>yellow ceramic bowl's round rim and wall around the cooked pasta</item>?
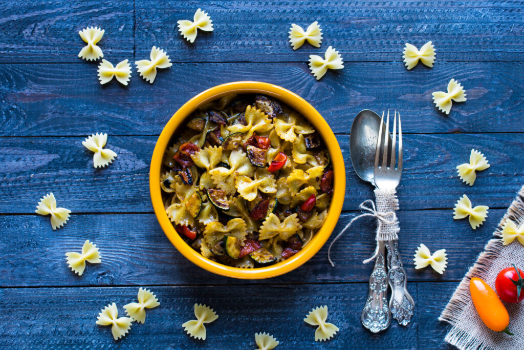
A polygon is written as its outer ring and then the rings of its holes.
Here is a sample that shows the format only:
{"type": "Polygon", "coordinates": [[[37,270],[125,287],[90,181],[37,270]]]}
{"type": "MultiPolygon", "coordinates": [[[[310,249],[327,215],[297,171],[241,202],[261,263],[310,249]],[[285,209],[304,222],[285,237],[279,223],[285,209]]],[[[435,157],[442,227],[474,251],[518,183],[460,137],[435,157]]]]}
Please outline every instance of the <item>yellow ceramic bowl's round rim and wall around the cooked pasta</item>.
{"type": "Polygon", "coordinates": [[[190,261],[201,268],[216,274],[239,279],[263,279],[275,277],[294,270],[301,266],[304,262],[308,261],[316,252],[320,250],[320,248],[322,248],[324,243],[328,240],[337,220],[339,219],[344,201],[345,184],[346,176],[342,151],[340,149],[339,143],[336,141],[335,135],[331,131],[328,123],[326,123],[326,121],[322,118],[320,113],[317,112],[311,104],[309,104],[297,94],[294,94],[293,92],[276,85],[257,81],[238,81],[215,86],[214,88],[199,93],[191,100],[186,102],[176,113],[173,114],[165,128],[162,130],[162,133],[158,137],[158,141],[151,158],[151,168],[149,171],[149,189],[151,192],[153,208],[155,209],[155,214],[158,218],[160,226],[171,243],[173,243],[173,246],[175,246],[184,257],[188,258],[190,261]],[[160,170],[163,161],[162,158],[168,147],[168,143],[170,142],[173,134],[176,132],[178,126],[184,122],[184,120],[193,111],[198,109],[203,104],[218,100],[221,97],[231,93],[265,94],[274,97],[275,99],[289,105],[289,107],[293,108],[294,110],[300,112],[304,118],[308,119],[311,124],[313,124],[316,131],[318,131],[322,136],[324,143],[328,147],[328,152],[331,156],[331,162],[333,164],[333,196],[331,200],[331,206],[328,210],[328,217],[326,218],[324,225],[319,229],[318,232],[316,232],[308,245],[300,250],[297,254],[294,254],[294,256],[291,258],[267,267],[256,269],[240,269],[226,266],[224,264],[204,258],[199,252],[191,248],[178,235],[177,231],[171,224],[171,221],[169,220],[164,208],[160,189],[160,170]]]}

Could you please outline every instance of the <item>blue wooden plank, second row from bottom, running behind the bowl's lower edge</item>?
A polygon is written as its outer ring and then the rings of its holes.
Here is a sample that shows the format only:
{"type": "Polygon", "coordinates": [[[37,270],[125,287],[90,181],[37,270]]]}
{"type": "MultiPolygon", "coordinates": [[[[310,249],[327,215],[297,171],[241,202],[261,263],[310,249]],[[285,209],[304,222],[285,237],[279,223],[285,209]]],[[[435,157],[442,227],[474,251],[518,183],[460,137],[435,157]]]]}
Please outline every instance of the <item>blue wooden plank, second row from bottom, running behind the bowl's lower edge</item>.
{"type": "MultiPolygon", "coordinates": [[[[485,224],[472,230],[466,220],[453,220],[451,210],[399,211],[399,249],[409,280],[461,279],[504,213],[503,209],[490,211],[485,224]],[[446,249],[449,260],[443,275],[431,268],[414,270],[413,253],[420,243],[431,251],[446,249]]],[[[367,282],[373,264],[362,261],[375,249],[373,220],[356,221],[332,248],[335,267],[328,261],[329,243],[354,216],[343,214],[328,243],[302,267],[263,283],[367,282]]],[[[194,266],[171,245],[153,214],[72,215],[57,231],[52,231],[48,217],[9,215],[0,216],[0,227],[5,261],[0,266],[2,287],[261,282],[220,277],[194,266]],[[86,239],[99,247],[102,263],[88,264],[79,277],[67,267],[64,253],[80,251],[86,239]]]]}

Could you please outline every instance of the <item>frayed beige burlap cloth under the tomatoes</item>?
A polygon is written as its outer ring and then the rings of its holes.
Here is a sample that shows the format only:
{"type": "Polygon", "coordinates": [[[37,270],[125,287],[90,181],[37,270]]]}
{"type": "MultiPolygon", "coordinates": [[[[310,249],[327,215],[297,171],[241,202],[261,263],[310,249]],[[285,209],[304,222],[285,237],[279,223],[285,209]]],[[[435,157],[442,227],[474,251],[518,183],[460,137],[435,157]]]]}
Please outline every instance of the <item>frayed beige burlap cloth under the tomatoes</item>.
{"type": "Polygon", "coordinates": [[[510,319],[508,328],[515,334],[510,336],[489,330],[478,316],[470,296],[472,277],[482,278],[495,289],[495,279],[500,270],[511,267],[511,263],[522,268],[524,246],[517,239],[504,246],[500,239],[502,227],[508,218],[517,226],[524,222],[524,186],[500,221],[494,238],[484,247],[439,317],[440,321],[452,325],[445,341],[460,349],[524,349],[524,302],[505,303],[510,319]]]}

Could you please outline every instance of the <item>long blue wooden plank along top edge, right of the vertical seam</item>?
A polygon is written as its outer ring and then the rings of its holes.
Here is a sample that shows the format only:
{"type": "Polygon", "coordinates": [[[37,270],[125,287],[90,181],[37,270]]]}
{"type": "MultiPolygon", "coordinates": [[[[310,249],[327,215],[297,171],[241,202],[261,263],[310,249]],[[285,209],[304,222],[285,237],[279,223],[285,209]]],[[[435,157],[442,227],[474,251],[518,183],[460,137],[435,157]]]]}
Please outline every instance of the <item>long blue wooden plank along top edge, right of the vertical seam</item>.
{"type": "Polygon", "coordinates": [[[136,57],[147,58],[152,45],[168,48],[174,61],[307,61],[328,46],[344,61],[402,60],[408,41],[433,40],[438,60],[522,60],[524,11],[520,2],[453,1],[316,2],[188,1],[158,6],[136,2],[136,57]],[[177,21],[192,19],[201,7],[214,31],[200,32],[193,44],[180,35],[177,21]],[[289,27],[306,28],[317,20],[323,30],[320,49],[289,45],[289,27]],[[479,35],[489,33],[489,35],[479,35]]]}

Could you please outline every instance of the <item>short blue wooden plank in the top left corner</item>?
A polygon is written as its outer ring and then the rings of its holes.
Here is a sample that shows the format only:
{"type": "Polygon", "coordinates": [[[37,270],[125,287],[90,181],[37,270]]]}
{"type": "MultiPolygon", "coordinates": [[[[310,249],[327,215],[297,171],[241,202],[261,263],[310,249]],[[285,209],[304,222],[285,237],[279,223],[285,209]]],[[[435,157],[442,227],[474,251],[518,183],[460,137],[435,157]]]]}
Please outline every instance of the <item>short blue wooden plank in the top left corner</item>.
{"type": "Polygon", "coordinates": [[[133,61],[133,11],[133,3],[111,0],[2,1],[0,62],[81,63],[78,53],[85,43],[78,32],[88,26],[105,30],[99,43],[104,58],[133,61]]]}

